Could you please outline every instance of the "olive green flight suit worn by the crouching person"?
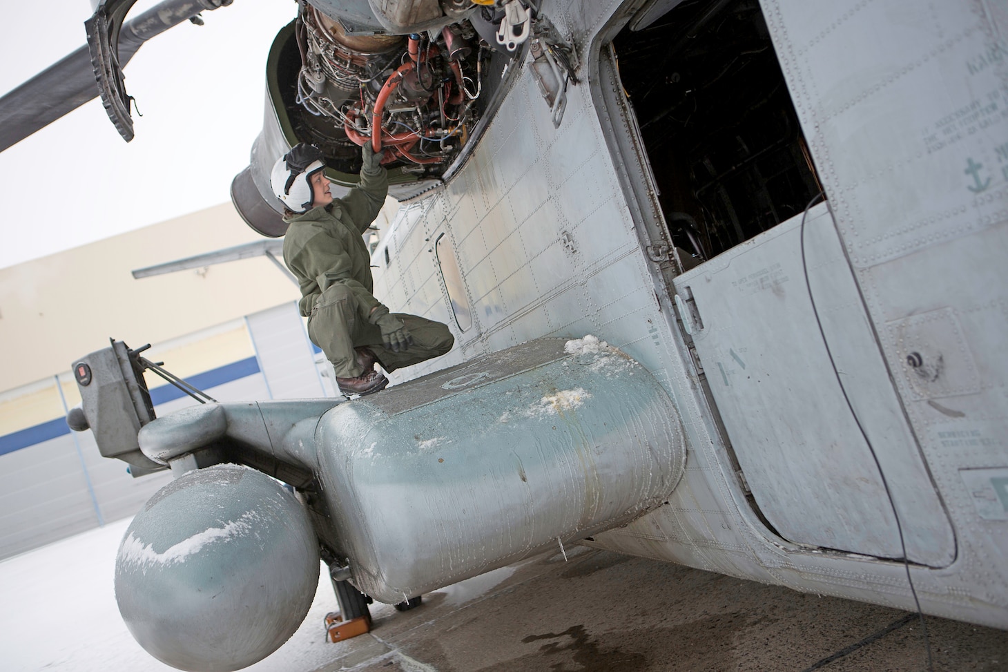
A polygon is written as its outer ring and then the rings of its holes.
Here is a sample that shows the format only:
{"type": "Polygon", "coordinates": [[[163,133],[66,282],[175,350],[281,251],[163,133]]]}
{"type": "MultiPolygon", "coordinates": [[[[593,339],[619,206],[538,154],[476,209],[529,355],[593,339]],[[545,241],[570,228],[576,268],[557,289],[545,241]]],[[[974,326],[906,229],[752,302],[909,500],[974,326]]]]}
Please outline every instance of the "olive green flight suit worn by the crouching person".
{"type": "Polygon", "coordinates": [[[437,357],[452,349],[448,326],[415,315],[394,313],[413,337],[413,345],[393,352],[381,330],[368,321],[381,304],[372,294],[371,254],[363,234],[378,216],[388,193],[388,174],[361,174],[360,184],[342,199],[306,213],[285,217],[283,261],[297,277],[297,306],[308,318],[308,337],[322,348],[341,378],[359,376],[355,347],[367,346],[388,372],[437,357]]]}

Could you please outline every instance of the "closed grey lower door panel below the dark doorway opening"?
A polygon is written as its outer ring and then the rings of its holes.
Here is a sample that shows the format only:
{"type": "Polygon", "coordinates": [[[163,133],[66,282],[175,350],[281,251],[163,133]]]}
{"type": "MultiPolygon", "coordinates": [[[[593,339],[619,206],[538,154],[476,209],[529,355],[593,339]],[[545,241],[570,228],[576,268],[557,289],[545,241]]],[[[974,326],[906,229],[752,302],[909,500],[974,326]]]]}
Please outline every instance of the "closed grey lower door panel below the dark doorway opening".
{"type": "Polygon", "coordinates": [[[745,479],[776,532],[800,544],[903,557],[884,473],[907,557],[950,564],[951,525],[827,206],[674,285],[745,479]]]}

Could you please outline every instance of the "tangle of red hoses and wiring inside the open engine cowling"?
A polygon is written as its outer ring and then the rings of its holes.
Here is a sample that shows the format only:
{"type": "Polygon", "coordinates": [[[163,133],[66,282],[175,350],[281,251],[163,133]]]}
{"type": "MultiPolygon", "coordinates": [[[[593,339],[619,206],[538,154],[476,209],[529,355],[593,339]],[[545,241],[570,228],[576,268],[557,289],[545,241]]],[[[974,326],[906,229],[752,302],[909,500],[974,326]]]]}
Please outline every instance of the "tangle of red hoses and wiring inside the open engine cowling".
{"type": "Polygon", "coordinates": [[[294,30],[300,69],[287,111],[298,137],[346,173],[356,172],[365,142],[386,149],[383,163],[444,172],[481,113],[490,49],[469,20],[410,35],[352,34],[302,3],[294,30]]]}

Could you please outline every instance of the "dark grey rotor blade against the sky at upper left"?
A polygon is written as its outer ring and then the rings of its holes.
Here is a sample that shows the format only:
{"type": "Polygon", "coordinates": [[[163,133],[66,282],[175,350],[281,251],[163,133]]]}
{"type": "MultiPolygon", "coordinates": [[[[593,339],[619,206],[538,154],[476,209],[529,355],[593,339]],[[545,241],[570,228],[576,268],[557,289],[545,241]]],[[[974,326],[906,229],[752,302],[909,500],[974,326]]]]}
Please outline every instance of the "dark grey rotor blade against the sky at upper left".
{"type": "MultiPolygon", "coordinates": [[[[119,63],[125,66],[143,42],[204,9],[193,0],[165,0],[128,21],[119,32],[119,63]]],[[[0,98],[0,151],[97,97],[86,44],[0,98]]]]}

